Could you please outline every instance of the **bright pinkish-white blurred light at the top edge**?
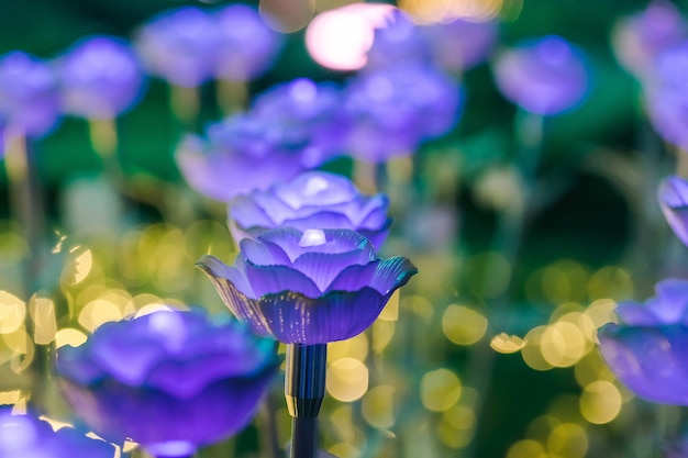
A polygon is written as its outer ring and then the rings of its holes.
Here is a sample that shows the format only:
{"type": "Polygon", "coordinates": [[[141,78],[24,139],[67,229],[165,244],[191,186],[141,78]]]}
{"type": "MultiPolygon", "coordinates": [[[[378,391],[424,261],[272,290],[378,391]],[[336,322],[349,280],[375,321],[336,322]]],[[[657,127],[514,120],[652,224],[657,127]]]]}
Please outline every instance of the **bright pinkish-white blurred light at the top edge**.
{"type": "Polygon", "coordinates": [[[382,27],[395,7],[354,3],[317,15],[306,30],[311,57],[334,70],[357,70],[366,65],[375,29],[382,27]]]}

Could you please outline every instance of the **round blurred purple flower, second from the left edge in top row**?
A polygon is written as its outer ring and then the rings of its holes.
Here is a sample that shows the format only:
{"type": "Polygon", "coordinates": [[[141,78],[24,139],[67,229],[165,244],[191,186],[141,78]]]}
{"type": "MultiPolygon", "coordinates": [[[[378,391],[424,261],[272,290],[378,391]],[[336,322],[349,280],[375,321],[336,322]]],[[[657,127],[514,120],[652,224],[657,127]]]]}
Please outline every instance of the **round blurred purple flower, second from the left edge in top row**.
{"type": "Polygon", "coordinates": [[[63,107],[87,119],[113,119],[131,108],[144,80],[129,43],[95,36],[75,44],[58,60],[63,107]]]}

